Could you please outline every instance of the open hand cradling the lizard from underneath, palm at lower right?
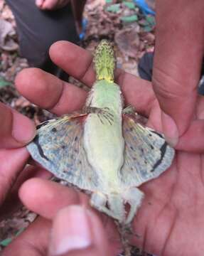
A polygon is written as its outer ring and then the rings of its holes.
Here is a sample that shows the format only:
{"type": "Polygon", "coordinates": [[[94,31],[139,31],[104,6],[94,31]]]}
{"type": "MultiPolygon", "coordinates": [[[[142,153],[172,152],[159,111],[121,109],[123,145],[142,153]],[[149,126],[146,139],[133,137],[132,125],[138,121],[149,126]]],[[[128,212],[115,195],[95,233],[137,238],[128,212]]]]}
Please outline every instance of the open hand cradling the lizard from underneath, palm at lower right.
{"type": "MultiPolygon", "coordinates": [[[[55,43],[50,48],[50,57],[56,65],[86,85],[92,85],[95,81],[92,55],[86,50],[62,41],[55,43]]],[[[117,83],[122,87],[127,105],[133,105],[137,112],[149,117],[149,126],[162,132],[161,110],[151,83],[124,73],[122,70],[117,70],[116,78],[117,83]]],[[[28,100],[59,115],[79,110],[86,97],[86,92],[80,88],[33,68],[23,70],[18,75],[16,86],[28,100]],[[43,100],[45,95],[46,101],[43,100]]],[[[203,101],[198,100],[196,117],[202,119],[202,113],[203,101]]],[[[199,131],[197,134],[199,135],[199,131]]],[[[185,137],[181,137],[183,143],[178,144],[180,147],[178,147],[171,168],[159,178],[140,187],[146,196],[134,218],[133,229],[136,236],[133,237],[131,243],[156,255],[203,255],[204,158],[203,154],[184,152],[183,150],[186,149],[185,139],[185,137]]],[[[196,138],[195,136],[193,141],[195,148],[198,148],[197,144],[200,144],[199,140],[202,139],[203,137],[196,138]]],[[[15,248],[19,248],[19,245],[22,250],[31,250],[33,255],[38,255],[39,251],[42,252],[42,255],[46,255],[49,244],[48,235],[52,226],[50,220],[53,219],[55,241],[62,239],[62,236],[66,240],[72,238],[73,234],[82,235],[77,233],[80,232],[78,228],[80,222],[74,217],[70,217],[70,209],[68,212],[64,212],[70,218],[70,223],[73,224],[70,229],[67,226],[69,223],[65,223],[64,214],[62,213],[61,217],[56,214],[61,208],[72,204],[82,204],[89,208],[87,196],[51,181],[39,179],[26,181],[21,188],[20,196],[23,203],[39,213],[43,219],[33,223],[31,228],[28,228],[24,235],[22,234],[23,237],[17,238],[5,251],[5,253],[9,252],[7,255],[14,256],[15,248]],[[39,194],[38,191],[42,191],[42,193],[39,194]],[[58,217],[65,223],[65,230],[60,230],[59,233],[58,225],[55,225],[58,223],[58,217]],[[38,224],[39,222],[41,225],[38,224]],[[63,235],[60,232],[64,232],[63,235]],[[23,242],[21,242],[21,238],[23,242]]],[[[59,214],[61,213],[59,212],[59,214]]],[[[95,214],[95,210],[92,210],[92,214],[95,214]]],[[[108,247],[111,255],[116,255],[119,247],[117,230],[112,227],[112,220],[100,213],[97,215],[101,219],[95,216],[97,232],[102,240],[101,245],[104,246],[104,250],[107,250],[108,247]],[[104,228],[100,224],[102,220],[104,228]],[[111,238],[109,238],[110,233],[111,238]]],[[[89,221],[92,220],[89,219],[89,221]]],[[[90,225],[92,227],[92,224],[90,225]]],[[[91,236],[91,240],[96,245],[95,236],[91,236]]],[[[50,243],[51,245],[55,244],[53,240],[50,243]]],[[[95,250],[98,255],[102,253],[100,252],[101,247],[95,247],[95,250]]],[[[68,255],[80,255],[80,253],[85,255],[84,250],[76,253],[70,252],[68,255]]],[[[53,255],[56,254],[53,252],[53,255]]],[[[90,250],[87,250],[87,255],[91,255],[90,250]]]]}

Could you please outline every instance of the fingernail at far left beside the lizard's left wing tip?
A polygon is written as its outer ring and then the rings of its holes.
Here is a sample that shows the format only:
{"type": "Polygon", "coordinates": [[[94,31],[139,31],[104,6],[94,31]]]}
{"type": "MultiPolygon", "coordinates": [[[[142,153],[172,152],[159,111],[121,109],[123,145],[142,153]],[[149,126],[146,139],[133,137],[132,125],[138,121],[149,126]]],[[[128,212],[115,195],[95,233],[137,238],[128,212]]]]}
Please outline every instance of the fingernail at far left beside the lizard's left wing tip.
{"type": "Polygon", "coordinates": [[[26,144],[36,135],[36,127],[33,122],[24,117],[23,114],[14,112],[13,114],[13,131],[12,136],[17,142],[26,144]]]}

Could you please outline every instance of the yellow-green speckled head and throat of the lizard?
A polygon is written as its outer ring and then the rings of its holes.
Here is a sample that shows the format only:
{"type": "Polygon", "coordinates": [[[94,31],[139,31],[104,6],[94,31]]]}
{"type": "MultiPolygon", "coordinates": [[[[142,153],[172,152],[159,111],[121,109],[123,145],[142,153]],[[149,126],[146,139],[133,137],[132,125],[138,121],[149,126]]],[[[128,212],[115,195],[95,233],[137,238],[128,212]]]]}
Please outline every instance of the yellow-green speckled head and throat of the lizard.
{"type": "Polygon", "coordinates": [[[93,59],[97,80],[114,82],[115,57],[114,50],[107,40],[102,40],[95,50],[93,59]]]}

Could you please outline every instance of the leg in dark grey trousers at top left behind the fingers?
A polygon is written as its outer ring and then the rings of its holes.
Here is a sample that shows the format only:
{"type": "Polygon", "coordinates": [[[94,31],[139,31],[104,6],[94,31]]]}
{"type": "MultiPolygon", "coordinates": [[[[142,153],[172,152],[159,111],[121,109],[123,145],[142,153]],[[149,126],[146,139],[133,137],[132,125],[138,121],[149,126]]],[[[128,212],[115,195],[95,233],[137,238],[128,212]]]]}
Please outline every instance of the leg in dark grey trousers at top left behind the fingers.
{"type": "Polygon", "coordinates": [[[35,0],[6,0],[6,4],[16,18],[21,55],[30,66],[65,78],[65,74],[51,62],[48,50],[52,43],[59,40],[77,43],[71,6],[56,11],[41,11],[35,0]]]}

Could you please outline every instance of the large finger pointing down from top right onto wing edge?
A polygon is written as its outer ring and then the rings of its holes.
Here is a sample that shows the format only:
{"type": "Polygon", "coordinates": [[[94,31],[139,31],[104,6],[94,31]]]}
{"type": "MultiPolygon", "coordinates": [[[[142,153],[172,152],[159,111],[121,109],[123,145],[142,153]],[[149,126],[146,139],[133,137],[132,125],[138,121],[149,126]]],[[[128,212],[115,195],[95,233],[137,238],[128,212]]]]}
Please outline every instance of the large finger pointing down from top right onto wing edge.
{"type": "Polygon", "coordinates": [[[157,6],[153,85],[163,110],[164,133],[176,144],[188,129],[195,110],[203,59],[204,2],[194,5],[177,1],[171,6],[168,0],[159,0],[157,6]],[[194,11],[189,22],[191,8],[194,11]]]}

